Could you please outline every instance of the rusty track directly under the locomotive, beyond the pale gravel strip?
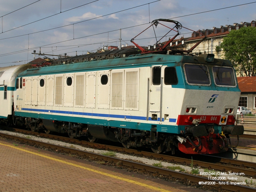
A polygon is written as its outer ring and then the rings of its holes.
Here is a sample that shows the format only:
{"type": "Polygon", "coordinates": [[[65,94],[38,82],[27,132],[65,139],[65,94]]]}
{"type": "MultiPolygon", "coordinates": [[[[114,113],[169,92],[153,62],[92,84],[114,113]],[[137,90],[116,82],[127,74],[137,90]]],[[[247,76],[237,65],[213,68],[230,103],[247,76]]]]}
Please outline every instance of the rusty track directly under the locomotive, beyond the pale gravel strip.
{"type": "MultiPolygon", "coordinates": [[[[106,144],[99,144],[99,143],[92,143],[84,140],[77,140],[77,139],[71,139],[68,137],[62,137],[62,136],[56,136],[56,135],[49,135],[45,133],[38,133],[38,132],[31,132],[26,131],[22,129],[13,129],[12,130],[24,134],[34,134],[39,135],[44,138],[49,138],[53,140],[61,140],[64,142],[69,142],[73,144],[78,144],[84,147],[92,147],[97,149],[107,149],[112,150],[116,152],[121,153],[127,153],[137,156],[144,156],[144,157],[150,157],[150,158],[156,158],[160,159],[162,161],[171,162],[171,163],[179,163],[179,164],[185,164],[190,165],[191,159],[189,158],[183,158],[183,157],[177,157],[177,156],[170,156],[170,155],[164,155],[164,154],[156,154],[152,152],[147,151],[140,151],[137,149],[128,149],[123,147],[116,147],[106,144]]],[[[218,170],[218,171],[231,171],[236,173],[244,173],[246,176],[255,177],[256,178],[256,163],[247,162],[247,161],[238,161],[235,159],[228,159],[228,158],[222,158],[222,157],[215,157],[210,155],[197,155],[192,156],[193,158],[193,164],[196,166],[218,170]],[[204,161],[201,161],[200,159],[204,159],[204,161]],[[208,161],[207,161],[208,160],[208,161]]]]}

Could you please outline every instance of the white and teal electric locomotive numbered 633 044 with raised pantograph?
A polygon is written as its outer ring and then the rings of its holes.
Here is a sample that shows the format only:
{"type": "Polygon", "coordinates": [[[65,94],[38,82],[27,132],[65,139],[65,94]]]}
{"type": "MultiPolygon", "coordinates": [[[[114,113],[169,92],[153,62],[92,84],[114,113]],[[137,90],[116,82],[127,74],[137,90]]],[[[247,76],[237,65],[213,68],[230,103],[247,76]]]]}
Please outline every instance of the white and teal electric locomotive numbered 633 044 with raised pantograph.
{"type": "MultiPolygon", "coordinates": [[[[168,21],[181,28],[177,21],[168,21]]],[[[62,58],[16,78],[14,122],[71,138],[105,139],[125,148],[175,149],[188,154],[228,150],[240,97],[235,70],[213,54],[168,47],[62,58]],[[19,84],[22,82],[22,84],[19,84]]]]}

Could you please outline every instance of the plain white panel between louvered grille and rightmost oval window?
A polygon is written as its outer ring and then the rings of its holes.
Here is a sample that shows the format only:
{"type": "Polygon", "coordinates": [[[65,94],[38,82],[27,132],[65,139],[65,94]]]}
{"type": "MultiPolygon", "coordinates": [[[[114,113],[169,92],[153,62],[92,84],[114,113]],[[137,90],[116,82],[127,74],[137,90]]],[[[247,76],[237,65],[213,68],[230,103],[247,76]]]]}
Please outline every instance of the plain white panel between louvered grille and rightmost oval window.
{"type": "Polygon", "coordinates": [[[95,108],[96,72],[86,75],[86,108],[95,108]]]}

